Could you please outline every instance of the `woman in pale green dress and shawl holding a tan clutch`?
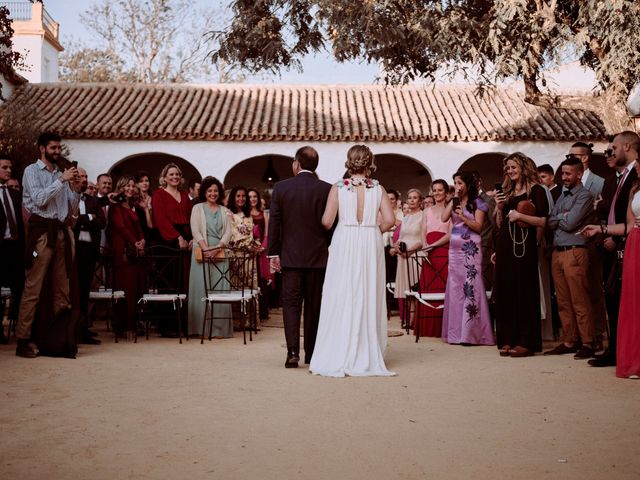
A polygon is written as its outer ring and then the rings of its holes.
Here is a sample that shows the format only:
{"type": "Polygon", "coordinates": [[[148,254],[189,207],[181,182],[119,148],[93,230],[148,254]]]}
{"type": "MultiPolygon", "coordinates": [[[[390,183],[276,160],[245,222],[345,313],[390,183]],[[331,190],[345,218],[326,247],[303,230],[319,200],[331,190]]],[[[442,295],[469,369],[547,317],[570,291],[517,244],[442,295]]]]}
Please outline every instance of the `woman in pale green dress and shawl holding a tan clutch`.
{"type": "MultiPolygon", "coordinates": [[[[205,303],[204,276],[202,265],[196,262],[196,247],[202,249],[203,257],[215,255],[213,249],[224,248],[231,239],[231,219],[228,210],[222,203],[222,184],[217,178],[205,177],[200,187],[200,202],[191,211],[191,231],[195,243],[194,253],[191,255],[191,270],[189,274],[189,333],[201,335],[204,326],[205,303]]],[[[225,260],[226,261],[226,260],[225,260]]],[[[221,266],[221,269],[224,269],[221,266]]],[[[205,269],[205,271],[207,271],[205,269]]],[[[210,285],[228,288],[220,281],[220,272],[210,268],[210,285]]],[[[230,304],[215,304],[213,308],[213,325],[211,335],[214,338],[229,338],[233,336],[230,304]]],[[[206,332],[205,332],[206,333],[206,332]]]]}

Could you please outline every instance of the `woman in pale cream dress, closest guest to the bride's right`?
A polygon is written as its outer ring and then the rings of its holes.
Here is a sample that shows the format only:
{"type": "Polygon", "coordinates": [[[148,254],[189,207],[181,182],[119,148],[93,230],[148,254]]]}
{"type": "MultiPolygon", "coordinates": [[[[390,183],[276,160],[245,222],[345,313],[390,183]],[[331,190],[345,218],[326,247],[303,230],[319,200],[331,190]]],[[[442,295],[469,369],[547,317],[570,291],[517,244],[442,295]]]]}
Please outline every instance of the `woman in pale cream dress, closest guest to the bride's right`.
{"type": "Polygon", "coordinates": [[[412,188],[407,192],[406,213],[400,225],[400,235],[398,241],[394,243],[393,248],[389,251],[391,255],[398,258],[398,267],[396,270],[396,292],[395,297],[398,299],[398,307],[400,310],[400,319],[403,323],[413,323],[409,319],[409,311],[405,304],[405,290],[409,289],[408,278],[408,257],[416,250],[422,248],[422,192],[417,188],[412,188]]]}

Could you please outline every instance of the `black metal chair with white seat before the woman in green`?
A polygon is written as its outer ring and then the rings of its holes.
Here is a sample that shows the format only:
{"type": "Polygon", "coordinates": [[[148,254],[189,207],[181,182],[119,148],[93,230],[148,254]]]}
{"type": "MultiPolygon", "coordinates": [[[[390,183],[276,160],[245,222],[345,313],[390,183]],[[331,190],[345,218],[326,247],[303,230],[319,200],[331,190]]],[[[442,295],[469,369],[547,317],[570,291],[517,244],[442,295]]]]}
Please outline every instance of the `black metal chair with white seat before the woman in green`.
{"type": "Polygon", "coordinates": [[[242,314],[242,337],[247,344],[247,323],[249,325],[249,341],[253,341],[253,333],[257,333],[257,299],[260,294],[255,284],[256,258],[252,250],[239,248],[224,249],[224,258],[205,258],[202,262],[204,275],[205,302],[204,321],[200,343],[204,343],[206,325],[209,324],[209,340],[213,331],[214,306],[216,304],[240,306],[242,314]]]}

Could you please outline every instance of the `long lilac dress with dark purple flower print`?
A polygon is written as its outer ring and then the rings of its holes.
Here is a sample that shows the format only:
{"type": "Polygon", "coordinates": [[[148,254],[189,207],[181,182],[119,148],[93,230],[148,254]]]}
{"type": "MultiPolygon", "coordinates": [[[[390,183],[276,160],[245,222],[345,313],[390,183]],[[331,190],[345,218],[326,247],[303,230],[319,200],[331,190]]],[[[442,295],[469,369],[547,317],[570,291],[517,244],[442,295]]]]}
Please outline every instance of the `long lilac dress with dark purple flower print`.
{"type": "MultiPolygon", "coordinates": [[[[480,198],[476,209],[488,211],[480,198]]],[[[466,207],[463,215],[475,215],[466,207]]],[[[442,316],[442,339],[447,343],[493,345],[493,328],[489,304],[482,279],[482,239],[452,213],[453,229],[449,241],[449,276],[442,316]]]]}

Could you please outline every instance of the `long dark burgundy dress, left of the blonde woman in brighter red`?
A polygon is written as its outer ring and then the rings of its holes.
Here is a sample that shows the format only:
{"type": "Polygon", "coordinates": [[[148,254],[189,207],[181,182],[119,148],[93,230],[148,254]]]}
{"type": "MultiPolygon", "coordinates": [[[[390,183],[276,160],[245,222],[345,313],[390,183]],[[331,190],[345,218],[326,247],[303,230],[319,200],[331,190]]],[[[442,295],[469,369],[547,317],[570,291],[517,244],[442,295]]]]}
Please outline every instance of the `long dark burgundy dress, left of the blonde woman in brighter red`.
{"type": "Polygon", "coordinates": [[[135,210],[122,204],[109,208],[109,237],[114,255],[113,286],[125,294],[126,315],[124,318],[123,315],[114,316],[116,335],[122,335],[136,328],[136,304],[146,283],[144,269],[135,256],[135,243],[144,239],[135,210]]]}

